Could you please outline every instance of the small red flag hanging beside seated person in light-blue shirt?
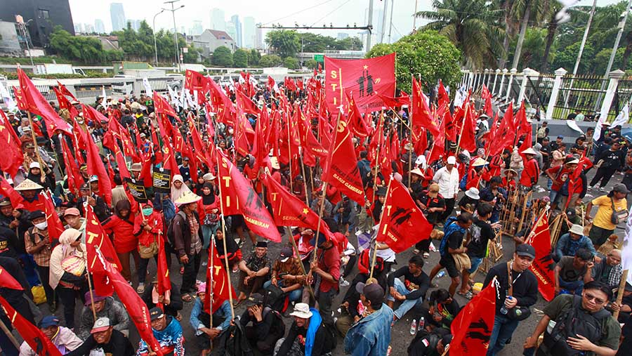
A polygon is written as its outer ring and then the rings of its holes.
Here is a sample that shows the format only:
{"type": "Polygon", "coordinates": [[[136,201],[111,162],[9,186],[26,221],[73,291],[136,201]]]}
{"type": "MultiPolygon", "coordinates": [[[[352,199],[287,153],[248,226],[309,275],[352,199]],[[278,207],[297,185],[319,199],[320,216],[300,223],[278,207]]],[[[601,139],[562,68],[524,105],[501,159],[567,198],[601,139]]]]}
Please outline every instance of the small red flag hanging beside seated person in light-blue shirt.
{"type": "MultiPolygon", "coordinates": [[[[215,244],[215,239],[211,241],[211,244],[215,244]]],[[[228,273],[223,260],[217,253],[217,246],[213,247],[213,253],[209,253],[208,268],[206,268],[206,298],[204,299],[204,311],[211,315],[224,301],[230,300],[230,294],[235,296],[235,289],[232,289],[232,286],[228,287],[228,273]]]]}

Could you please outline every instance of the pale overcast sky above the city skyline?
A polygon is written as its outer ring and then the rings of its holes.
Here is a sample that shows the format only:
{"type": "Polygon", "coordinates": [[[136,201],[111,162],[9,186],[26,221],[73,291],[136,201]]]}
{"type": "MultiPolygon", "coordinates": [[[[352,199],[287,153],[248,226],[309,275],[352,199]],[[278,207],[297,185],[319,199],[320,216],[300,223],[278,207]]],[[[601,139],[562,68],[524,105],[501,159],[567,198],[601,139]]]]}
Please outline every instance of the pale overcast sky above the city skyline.
{"type": "MultiPolygon", "coordinates": [[[[415,0],[394,0],[393,9],[393,37],[401,37],[408,34],[413,28],[412,14],[415,9],[415,0]]],[[[72,19],[75,23],[88,23],[94,25],[97,18],[103,20],[106,31],[112,29],[110,20],[110,3],[119,2],[124,6],[126,19],[145,19],[152,25],[154,14],[160,11],[162,0],[118,0],[118,1],[86,1],[70,0],[72,19]]],[[[430,0],[419,0],[418,10],[430,10],[430,0]]],[[[617,0],[598,0],[599,6],[612,4],[617,0]]],[[[225,12],[226,20],[232,15],[239,15],[243,21],[246,16],[252,16],[256,22],[263,24],[280,23],[291,26],[294,22],[300,25],[318,25],[323,23],[334,26],[346,26],[357,23],[358,26],[365,22],[365,11],[369,7],[369,0],[230,0],[230,1],[208,1],[208,0],[180,0],[176,7],[184,5],[184,8],[176,11],[176,25],[178,29],[184,26],[188,31],[195,20],[202,21],[204,29],[210,27],[211,8],[221,8],[225,12]]],[[[591,5],[592,0],[581,0],[580,5],[591,5]]],[[[382,11],[384,1],[374,0],[374,15],[382,11]]],[[[388,4],[390,11],[390,1],[388,4]]],[[[390,12],[388,13],[390,16],[390,12]]],[[[386,19],[389,23],[389,18],[386,19]]],[[[424,20],[417,20],[417,26],[425,23],[424,20]]],[[[375,25],[375,23],[374,23],[375,25]]],[[[388,26],[388,25],[387,25],[388,26]]],[[[156,27],[173,28],[171,13],[165,12],[157,16],[156,27]]],[[[388,27],[387,27],[388,31],[388,27]]],[[[336,37],[338,32],[347,32],[350,36],[357,35],[357,30],[331,30],[320,32],[336,37]]],[[[388,33],[388,32],[387,32],[388,33]]]]}

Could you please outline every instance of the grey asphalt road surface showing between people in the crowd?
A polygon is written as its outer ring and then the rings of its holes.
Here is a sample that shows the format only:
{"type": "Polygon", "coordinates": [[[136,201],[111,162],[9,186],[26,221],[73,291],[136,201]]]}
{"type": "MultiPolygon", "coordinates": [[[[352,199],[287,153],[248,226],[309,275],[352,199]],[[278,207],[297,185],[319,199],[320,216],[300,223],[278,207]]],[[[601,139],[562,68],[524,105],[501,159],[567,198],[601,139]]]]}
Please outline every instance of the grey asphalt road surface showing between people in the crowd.
{"type": "MultiPolygon", "coordinates": [[[[588,179],[591,179],[595,174],[595,169],[591,169],[591,171],[588,172],[588,179]]],[[[606,187],[606,192],[610,191],[610,189],[612,188],[612,185],[616,184],[616,183],[620,183],[621,182],[621,178],[623,178],[623,176],[620,173],[617,173],[614,177],[612,177],[612,179],[610,180],[610,183],[607,185],[606,187]]],[[[546,187],[546,178],[541,177],[539,180],[539,185],[541,187],[546,187]]],[[[548,192],[544,191],[544,192],[536,192],[534,194],[534,197],[543,197],[544,195],[547,195],[548,192]]],[[[586,195],[586,197],[584,198],[584,202],[588,202],[590,199],[592,199],[593,197],[598,197],[600,195],[606,194],[605,192],[599,192],[598,190],[589,190],[588,194],[586,195]]],[[[462,193],[461,193],[462,195],[462,193]]],[[[459,195],[460,197],[460,195],[459,195]]],[[[629,205],[629,202],[628,202],[629,205]]],[[[594,216],[594,211],[593,211],[593,216],[594,216]]],[[[622,223],[621,225],[619,225],[619,227],[617,228],[617,233],[618,235],[621,237],[624,233],[624,226],[625,224],[622,223]]],[[[357,240],[355,238],[350,238],[350,241],[352,244],[355,244],[357,246],[357,240]]],[[[283,239],[284,243],[287,243],[287,236],[284,236],[283,239]]],[[[438,240],[434,240],[433,244],[435,244],[435,246],[438,247],[438,240]]],[[[269,256],[274,260],[275,258],[277,258],[279,256],[279,251],[281,248],[282,244],[275,244],[275,243],[270,243],[270,248],[268,251],[269,256]]],[[[501,261],[499,261],[499,263],[503,263],[508,261],[509,258],[511,258],[512,254],[513,254],[513,249],[514,249],[514,244],[513,244],[513,240],[511,239],[511,237],[503,237],[503,258],[501,259],[501,261]]],[[[249,253],[249,251],[251,251],[251,244],[250,242],[246,242],[246,244],[244,244],[243,248],[242,248],[242,253],[244,253],[244,257],[247,256],[247,254],[249,253]]],[[[405,263],[407,263],[408,259],[413,255],[413,249],[409,249],[407,251],[404,251],[403,253],[400,253],[397,256],[397,265],[394,265],[393,268],[399,268],[402,265],[404,265],[405,263]]],[[[202,261],[204,261],[204,258],[206,256],[203,256],[202,261]]],[[[175,258],[174,258],[175,261],[175,258]]],[[[430,253],[430,258],[428,258],[426,260],[426,265],[424,266],[423,270],[427,273],[430,274],[430,270],[433,268],[433,266],[439,261],[439,253],[437,252],[431,252],[430,253]]],[[[133,265],[133,263],[132,263],[133,265]]],[[[198,279],[200,280],[204,280],[205,276],[205,266],[203,265],[200,268],[199,274],[198,274],[198,279]]],[[[155,265],[154,263],[150,263],[150,267],[149,267],[150,273],[155,273],[155,265]]],[[[352,275],[350,275],[348,277],[348,281],[351,281],[353,279],[353,277],[355,277],[355,274],[357,273],[357,268],[354,269],[354,272],[352,275]]],[[[133,276],[136,275],[135,272],[132,273],[133,276]]],[[[178,264],[177,263],[173,263],[172,268],[171,268],[171,276],[172,278],[176,279],[176,284],[180,284],[180,274],[178,272],[178,264]]],[[[238,277],[239,274],[238,273],[230,273],[230,278],[232,280],[233,285],[237,284],[238,281],[238,277]]],[[[136,277],[134,277],[136,278],[136,277]]],[[[485,275],[483,275],[482,273],[478,272],[475,277],[474,277],[474,281],[475,282],[483,282],[483,279],[485,279],[485,275]]],[[[136,287],[136,280],[133,281],[134,282],[134,286],[136,287]]],[[[450,279],[449,277],[444,276],[441,278],[435,278],[434,280],[435,283],[437,283],[440,288],[445,288],[447,289],[449,284],[450,284],[450,279]]],[[[341,300],[345,294],[345,291],[348,287],[343,287],[341,288],[341,293],[338,294],[338,296],[336,296],[336,298],[334,299],[334,311],[336,311],[338,309],[338,305],[341,303],[341,300]]],[[[430,289],[430,291],[433,289],[430,289]]],[[[428,291],[427,296],[429,296],[430,291],[428,291]]],[[[467,303],[467,300],[459,295],[455,296],[456,301],[459,302],[459,305],[465,305],[467,303]]],[[[537,322],[539,321],[539,315],[541,315],[541,313],[539,313],[539,310],[542,310],[542,308],[544,308],[546,301],[544,301],[544,299],[542,299],[541,297],[539,297],[538,302],[536,303],[536,305],[534,305],[533,308],[533,314],[532,316],[530,316],[528,319],[520,322],[518,329],[516,329],[515,333],[513,334],[513,338],[512,338],[512,342],[510,345],[507,345],[506,348],[501,351],[500,355],[522,355],[522,343],[525,341],[525,339],[527,338],[527,336],[529,336],[532,331],[534,330],[537,322]]],[[[186,355],[199,355],[199,350],[197,348],[197,343],[195,341],[195,334],[192,330],[192,327],[190,327],[190,324],[188,322],[189,320],[189,316],[190,316],[190,311],[192,308],[193,303],[185,303],[185,306],[182,310],[182,314],[183,314],[183,329],[184,329],[184,333],[185,333],[185,338],[186,338],[186,343],[185,343],[185,348],[186,348],[186,355]]],[[[44,313],[44,315],[48,314],[48,308],[46,307],[46,304],[44,305],[40,305],[40,309],[41,311],[44,313]]],[[[242,312],[244,312],[245,307],[243,305],[240,305],[239,308],[235,309],[235,313],[236,315],[241,315],[242,312]]],[[[77,319],[79,319],[79,312],[81,311],[80,306],[77,305],[77,319]]],[[[56,315],[58,315],[61,319],[63,319],[62,317],[62,308],[59,308],[59,310],[55,313],[56,315]]],[[[337,312],[336,312],[336,316],[337,316],[337,312]]],[[[405,315],[402,319],[400,319],[400,321],[398,321],[395,326],[393,327],[392,330],[392,334],[391,334],[391,343],[390,345],[392,345],[393,347],[393,351],[391,353],[391,355],[395,356],[395,355],[407,355],[407,347],[410,343],[410,341],[412,340],[413,336],[409,334],[409,327],[410,327],[410,323],[412,322],[412,312],[409,312],[407,315],[405,315]]],[[[289,325],[292,322],[292,318],[291,317],[285,317],[284,321],[287,324],[287,327],[289,327],[289,325]]],[[[133,329],[133,327],[132,327],[133,329]]],[[[16,333],[14,333],[16,334],[16,333]]],[[[17,336],[17,334],[16,334],[17,336]]],[[[138,333],[136,332],[136,330],[131,330],[130,332],[130,339],[133,343],[133,345],[138,345],[138,333]]],[[[213,353],[213,355],[217,355],[217,352],[213,353]]],[[[337,355],[344,355],[343,352],[343,340],[341,338],[338,338],[338,346],[336,348],[336,350],[334,350],[333,352],[334,356],[337,355]]]]}

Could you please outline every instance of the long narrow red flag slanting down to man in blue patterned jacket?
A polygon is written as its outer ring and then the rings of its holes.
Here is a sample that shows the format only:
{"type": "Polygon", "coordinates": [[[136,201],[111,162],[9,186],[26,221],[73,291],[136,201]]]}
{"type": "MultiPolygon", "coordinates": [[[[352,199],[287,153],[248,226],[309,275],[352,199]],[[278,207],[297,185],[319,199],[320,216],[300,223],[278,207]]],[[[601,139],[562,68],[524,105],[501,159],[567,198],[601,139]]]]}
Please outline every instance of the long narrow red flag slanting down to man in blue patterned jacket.
{"type": "MultiPolygon", "coordinates": [[[[98,220],[97,220],[98,221],[98,220]]],[[[149,308],[147,304],[140,298],[138,293],[133,289],[131,285],[121,276],[121,272],[116,268],[112,268],[110,262],[106,261],[101,251],[96,251],[98,258],[97,262],[100,263],[98,269],[103,270],[105,275],[110,280],[110,284],[117,292],[121,303],[125,306],[125,310],[129,314],[129,318],[136,326],[138,335],[142,338],[147,345],[152,348],[158,356],[163,356],[162,348],[159,345],[156,338],[154,338],[154,332],[152,330],[152,324],[150,322],[149,308]]]]}

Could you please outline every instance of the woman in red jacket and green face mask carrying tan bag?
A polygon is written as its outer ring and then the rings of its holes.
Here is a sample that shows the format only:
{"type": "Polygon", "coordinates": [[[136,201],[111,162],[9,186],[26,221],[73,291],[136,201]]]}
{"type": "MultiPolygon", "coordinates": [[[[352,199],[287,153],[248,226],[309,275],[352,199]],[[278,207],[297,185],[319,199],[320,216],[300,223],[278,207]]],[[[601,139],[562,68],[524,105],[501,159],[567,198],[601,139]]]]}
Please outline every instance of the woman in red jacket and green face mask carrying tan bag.
{"type": "MultiPolygon", "coordinates": [[[[140,214],[134,219],[134,236],[138,239],[138,253],[140,263],[138,270],[139,294],[145,292],[145,279],[147,279],[147,265],[150,258],[154,258],[158,264],[158,239],[159,234],[164,232],[164,220],[162,215],[154,210],[151,202],[141,204],[140,214]]],[[[163,245],[164,246],[164,245],[163,245]]]]}

